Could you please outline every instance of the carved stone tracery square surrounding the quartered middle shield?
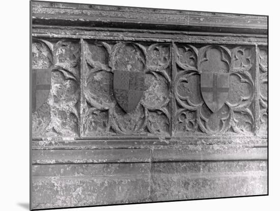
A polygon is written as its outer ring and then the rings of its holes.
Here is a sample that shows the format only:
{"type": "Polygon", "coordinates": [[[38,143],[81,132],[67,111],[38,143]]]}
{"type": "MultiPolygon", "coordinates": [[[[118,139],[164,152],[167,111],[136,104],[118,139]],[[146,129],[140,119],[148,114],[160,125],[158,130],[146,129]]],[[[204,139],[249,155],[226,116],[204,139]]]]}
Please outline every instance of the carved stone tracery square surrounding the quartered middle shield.
{"type": "Polygon", "coordinates": [[[84,41],[84,48],[82,136],[169,136],[170,45],[84,41]],[[116,101],[116,70],[145,73],[144,94],[130,112],[125,112],[116,101]]]}

